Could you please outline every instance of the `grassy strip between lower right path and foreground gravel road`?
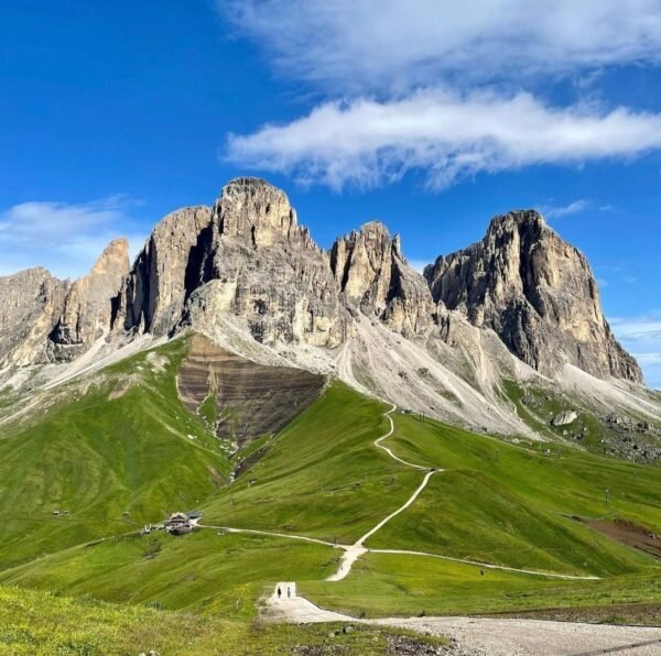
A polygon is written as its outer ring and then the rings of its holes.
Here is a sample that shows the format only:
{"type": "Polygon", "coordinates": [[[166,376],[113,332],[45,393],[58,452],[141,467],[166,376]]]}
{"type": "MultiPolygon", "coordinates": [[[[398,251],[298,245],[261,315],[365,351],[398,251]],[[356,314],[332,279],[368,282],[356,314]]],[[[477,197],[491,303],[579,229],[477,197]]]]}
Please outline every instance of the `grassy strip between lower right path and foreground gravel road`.
{"type": "MultiPolygon", "coordinates": [[[[434,558],[368,554],[347,579],[304,581],[299,593],[325,608],[355,616],[463,615],[531,609],[653,606],[647,621],[659,624],[661,569],[599,581],[553,580],[448,562],[434,558]]],[[[626,621],[626,614],[622,613],[626,621]]],[[[619,621],[608,612],[606,621],[619,621]]]]}

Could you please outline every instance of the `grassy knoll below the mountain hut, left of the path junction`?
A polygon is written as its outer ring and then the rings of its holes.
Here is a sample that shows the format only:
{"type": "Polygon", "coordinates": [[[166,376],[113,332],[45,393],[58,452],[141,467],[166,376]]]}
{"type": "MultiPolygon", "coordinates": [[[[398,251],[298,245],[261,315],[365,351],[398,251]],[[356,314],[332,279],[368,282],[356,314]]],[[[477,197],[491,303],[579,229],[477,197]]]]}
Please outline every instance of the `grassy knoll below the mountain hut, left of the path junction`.
{"type": "Polygon", "coordinates": [[[323,579],[337,556],[329,547],[280,538],[160,532],[75,547],[4,571],[0,582],[252,620],[264,591],[282,580],[323,579]]]}

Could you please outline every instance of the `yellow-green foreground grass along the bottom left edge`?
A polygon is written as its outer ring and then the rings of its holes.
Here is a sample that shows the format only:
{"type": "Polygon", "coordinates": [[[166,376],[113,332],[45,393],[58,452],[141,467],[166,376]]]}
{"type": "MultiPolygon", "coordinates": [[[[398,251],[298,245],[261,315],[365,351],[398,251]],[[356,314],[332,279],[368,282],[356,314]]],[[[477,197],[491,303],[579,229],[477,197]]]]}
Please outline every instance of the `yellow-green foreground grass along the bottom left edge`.
{"type": "MultiPolygon", "coordinates": [[[[0,588],[0,654],[275,654],[318,647],[332,654],[384,654],[409,632],[342,624],[239,622],[0,588]]],[[[443,644],[416,636],[412,644],[443,644]]]]}

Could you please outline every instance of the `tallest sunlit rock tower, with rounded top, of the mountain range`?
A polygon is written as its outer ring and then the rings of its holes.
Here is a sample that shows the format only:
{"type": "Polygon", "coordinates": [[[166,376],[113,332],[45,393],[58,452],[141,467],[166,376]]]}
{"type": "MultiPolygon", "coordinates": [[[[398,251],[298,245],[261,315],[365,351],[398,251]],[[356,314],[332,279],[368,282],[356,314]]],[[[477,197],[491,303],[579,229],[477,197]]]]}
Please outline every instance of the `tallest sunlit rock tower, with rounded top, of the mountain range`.
{"type": "Polygon", "coordinates": [[[207,327],[229,313],[261,343],[342,341],[346,324],[327,259],[283,192],[261,179],[232,181],[212,223],[209,275],[198,273],[203,284],[184,324],[207,327]]]}

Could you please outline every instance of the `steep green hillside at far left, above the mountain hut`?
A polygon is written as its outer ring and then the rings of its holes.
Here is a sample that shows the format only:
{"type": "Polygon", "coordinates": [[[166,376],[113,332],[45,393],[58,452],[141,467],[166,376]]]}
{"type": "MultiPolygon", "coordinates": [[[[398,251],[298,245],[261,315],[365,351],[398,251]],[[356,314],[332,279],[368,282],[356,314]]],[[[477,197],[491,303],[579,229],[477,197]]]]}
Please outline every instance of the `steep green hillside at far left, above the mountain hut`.
{"type": "Polygon", "coordinates": [[[217,440],[176,396],[185,348],[131,358],[0,427],[0,566],[159,522],[226,482],[217,440]]]}

